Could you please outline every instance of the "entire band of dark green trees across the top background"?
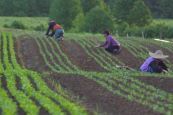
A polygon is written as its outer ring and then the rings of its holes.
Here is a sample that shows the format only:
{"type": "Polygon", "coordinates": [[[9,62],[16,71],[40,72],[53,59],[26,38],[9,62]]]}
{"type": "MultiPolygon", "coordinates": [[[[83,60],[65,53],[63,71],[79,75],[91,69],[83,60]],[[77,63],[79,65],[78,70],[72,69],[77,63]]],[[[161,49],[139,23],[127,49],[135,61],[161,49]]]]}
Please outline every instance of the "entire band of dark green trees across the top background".
{"type": "Polygon", "coordinates": [[[172,0],[0,0],[0,7],[2,16],[45,16],[66,31],[109,29],[122,35],[142,32],[152,37],[153,33],[164,35],[160,31],[168,28],[165,35],[173,36],[172,28],[151,25],[153,18],[173,18],[172,0]]]}

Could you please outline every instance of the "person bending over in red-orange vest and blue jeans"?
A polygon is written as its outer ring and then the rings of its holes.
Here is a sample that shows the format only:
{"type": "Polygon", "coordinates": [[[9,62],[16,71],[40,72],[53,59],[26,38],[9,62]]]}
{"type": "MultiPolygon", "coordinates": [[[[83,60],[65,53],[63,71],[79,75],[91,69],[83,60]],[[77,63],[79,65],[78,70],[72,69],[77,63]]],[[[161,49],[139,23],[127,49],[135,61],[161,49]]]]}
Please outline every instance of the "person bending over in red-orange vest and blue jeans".
{"type": "Polygon", "coordinates": [[[49,27],[47,29],[46,35],[51,36],[51,37],[54,36],[55,39],[57,39],[57,40],[63,40],[64,30],[59,24],[56,24],[56,22],[54,20],[52,20],[49,22],[49,27]],[[51,31],[51,33],[50,33],[50,31],[51,31]]]}

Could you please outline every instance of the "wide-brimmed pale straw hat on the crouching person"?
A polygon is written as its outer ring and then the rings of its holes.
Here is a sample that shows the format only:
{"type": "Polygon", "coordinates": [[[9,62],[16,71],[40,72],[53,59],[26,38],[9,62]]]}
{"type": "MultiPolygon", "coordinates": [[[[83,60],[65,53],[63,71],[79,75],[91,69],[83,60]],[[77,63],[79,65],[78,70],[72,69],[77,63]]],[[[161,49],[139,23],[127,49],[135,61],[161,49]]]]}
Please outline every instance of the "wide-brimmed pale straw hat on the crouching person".
{"type": "Polygon", "coordinates": [[[155,53],[149,52],[149,55],[156,59],[165,59],[169,57],[168,55],[164,55],[161,50],[157,50],[155,53]]]}

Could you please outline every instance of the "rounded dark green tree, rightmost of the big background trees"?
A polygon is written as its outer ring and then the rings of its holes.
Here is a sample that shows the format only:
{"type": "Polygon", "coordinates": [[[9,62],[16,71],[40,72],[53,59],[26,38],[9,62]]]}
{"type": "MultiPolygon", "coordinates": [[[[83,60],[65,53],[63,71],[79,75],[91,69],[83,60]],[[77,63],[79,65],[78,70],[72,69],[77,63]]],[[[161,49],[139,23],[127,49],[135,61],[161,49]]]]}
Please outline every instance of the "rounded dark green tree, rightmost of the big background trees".
{"type": "Polygon", "coordinates": [[[137,0],[130,10],[127,22],[130,25],[144,26],[151,22],[152,16],[143,0],[137,0]]]}

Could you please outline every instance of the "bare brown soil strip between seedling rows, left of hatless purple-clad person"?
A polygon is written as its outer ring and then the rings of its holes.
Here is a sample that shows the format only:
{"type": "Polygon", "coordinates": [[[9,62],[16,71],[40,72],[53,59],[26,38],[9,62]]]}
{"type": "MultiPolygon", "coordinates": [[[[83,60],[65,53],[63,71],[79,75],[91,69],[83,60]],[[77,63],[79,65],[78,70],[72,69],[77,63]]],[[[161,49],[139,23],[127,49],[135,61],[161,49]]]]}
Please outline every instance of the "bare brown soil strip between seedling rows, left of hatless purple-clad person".
{"type": "Polygon", "coordinates": [[[70,61],[77,65],[82,70],[86,71],[105,71],[99,64],[97,64],[94,59],[88,56],[84,49],[79,46],[79,44],[74,41],[68,40],[63,41],[60,44],[60,47],[63,52],[67,54],[70,61]]]}

